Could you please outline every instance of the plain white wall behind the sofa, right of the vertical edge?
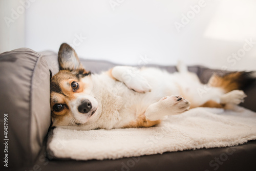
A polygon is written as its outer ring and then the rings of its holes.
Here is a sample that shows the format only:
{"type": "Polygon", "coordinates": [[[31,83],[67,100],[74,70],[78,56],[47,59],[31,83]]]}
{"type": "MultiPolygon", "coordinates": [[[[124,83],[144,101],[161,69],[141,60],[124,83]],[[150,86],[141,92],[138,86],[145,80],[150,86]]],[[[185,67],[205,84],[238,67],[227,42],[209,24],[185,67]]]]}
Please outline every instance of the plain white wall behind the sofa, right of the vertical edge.
{"type": "Polygon", "coordinates": [[[202,2],[36,0],[26,10],[25,46],[57,52],[68,42],[89,59],[161,65],[181,59],[188,65],[256,70],[256,1],[202,2]],[[182,22],[178,31],[175,24],[182,22]]]}

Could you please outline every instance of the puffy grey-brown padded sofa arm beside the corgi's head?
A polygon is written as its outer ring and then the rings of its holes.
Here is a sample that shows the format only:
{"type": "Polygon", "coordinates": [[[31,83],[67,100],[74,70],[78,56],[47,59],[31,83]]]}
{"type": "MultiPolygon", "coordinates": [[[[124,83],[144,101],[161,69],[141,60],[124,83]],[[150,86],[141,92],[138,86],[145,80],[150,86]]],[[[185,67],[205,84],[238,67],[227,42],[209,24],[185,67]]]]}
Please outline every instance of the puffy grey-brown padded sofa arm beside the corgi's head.
{"type": "Polygon", "coordinates": [[[8,168],[31,165],[50,126],[48,62],[30,49],[16,49],[0,54],[0,73],[0,119],[8,114],[8,136],[2,138],[9,139],[8,168]]]}

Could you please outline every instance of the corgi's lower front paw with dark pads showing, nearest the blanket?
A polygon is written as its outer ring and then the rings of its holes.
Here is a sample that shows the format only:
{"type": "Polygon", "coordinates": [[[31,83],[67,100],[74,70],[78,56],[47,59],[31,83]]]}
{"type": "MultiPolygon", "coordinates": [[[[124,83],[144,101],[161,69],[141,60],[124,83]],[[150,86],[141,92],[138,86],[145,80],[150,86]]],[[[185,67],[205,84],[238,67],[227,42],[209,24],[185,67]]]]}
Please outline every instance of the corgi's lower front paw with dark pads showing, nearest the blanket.
{"type": "Polygon", "coordinates": [[[159,103],[173,114],[183,113],[190,107],[190,102],[182,96],[166,96],[160,99],[159,103]]]}

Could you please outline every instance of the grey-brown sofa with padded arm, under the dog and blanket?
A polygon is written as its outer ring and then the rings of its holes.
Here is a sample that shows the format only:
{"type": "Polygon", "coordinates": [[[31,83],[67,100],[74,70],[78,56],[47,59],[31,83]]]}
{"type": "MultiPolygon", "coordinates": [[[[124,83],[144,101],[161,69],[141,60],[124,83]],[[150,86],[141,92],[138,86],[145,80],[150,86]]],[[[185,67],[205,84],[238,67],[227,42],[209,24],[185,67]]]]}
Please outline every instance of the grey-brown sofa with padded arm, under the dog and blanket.
{"type": "MultiPolygon", "coordinates": [[[[93,73],[116,66],[107,61],[81,59],[81,62],[93,73]]],[[[155,67],[176,71],[174,66],[155,67]]],[[[256,140],[232,147],[141,156],[133,167],[127,167],[133,158],[102,161],[54,159],[46,153],[47,138],[52,133],[49,129],[49,70],[53,75],[58,72],[54,52],[37,53],[21,48],[0,54],[1,170],[256,170],[256,140]],[[8,129],[4,128],[6,125],[8,129]],[[232,155],[225,160],[221,158],[230,150],[232,155]]],[[[202,66],[191,66],[189,71],[197,73],[204,83],[214,72],[226,73],[202,66]]],[[[256,111],[256,83],[244,91],[248,97],[241,105],[256,111]]]]}

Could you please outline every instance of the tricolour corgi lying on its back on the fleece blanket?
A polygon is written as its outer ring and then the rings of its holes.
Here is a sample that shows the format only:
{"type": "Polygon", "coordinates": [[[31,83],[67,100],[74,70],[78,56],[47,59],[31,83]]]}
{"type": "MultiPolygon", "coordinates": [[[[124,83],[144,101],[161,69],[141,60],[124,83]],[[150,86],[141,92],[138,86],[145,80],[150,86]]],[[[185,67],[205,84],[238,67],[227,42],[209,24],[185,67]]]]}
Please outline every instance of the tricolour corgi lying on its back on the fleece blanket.
{"type": "Polygon", "coordinates": [[[50,81],[52,126],[75,130],[150,127],[199,106],[228,109],[243,102],[240,89],[256,77],[255,72],[231,72],[213,75],[205,85],[182,63],[172,74],[130,66],[93,74],[65,43],[58,62],[59,72],[50,81]]]}

